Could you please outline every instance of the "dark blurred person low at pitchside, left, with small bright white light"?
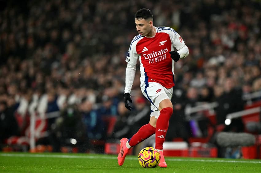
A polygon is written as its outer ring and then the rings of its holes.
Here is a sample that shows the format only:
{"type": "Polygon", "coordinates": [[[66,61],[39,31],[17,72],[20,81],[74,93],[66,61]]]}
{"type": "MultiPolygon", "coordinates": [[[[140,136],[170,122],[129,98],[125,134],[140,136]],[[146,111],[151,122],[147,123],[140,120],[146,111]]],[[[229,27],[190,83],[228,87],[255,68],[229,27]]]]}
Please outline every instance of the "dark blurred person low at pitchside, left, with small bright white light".
{"type": "Polygon", "coordinates": [[[81,115],[81,105],[79,107],[74,104],[61,109],[60,116],[50,126],[49,136],[37,143],[52,145],[53,152],[60,152],[61,147],[78,147],[79,152],[88,151],[91,148],[88,141],[90,134],[86,130],[85,117],[81,115]],[[75,139],[76,143],[71,139],[75,139]]]}

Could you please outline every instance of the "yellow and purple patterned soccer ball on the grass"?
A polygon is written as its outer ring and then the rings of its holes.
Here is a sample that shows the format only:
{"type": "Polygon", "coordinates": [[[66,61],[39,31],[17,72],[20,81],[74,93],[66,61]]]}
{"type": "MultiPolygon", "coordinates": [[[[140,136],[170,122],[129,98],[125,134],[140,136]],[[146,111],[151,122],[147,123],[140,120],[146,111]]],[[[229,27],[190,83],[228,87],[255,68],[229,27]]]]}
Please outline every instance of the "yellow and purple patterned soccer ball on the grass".
{"type": "Polygon", "coordinates": [[[140,151],[138,161],[142,167],[157,167],[160,161],[160,153],[153,147],[146,147],[140,151]]]}

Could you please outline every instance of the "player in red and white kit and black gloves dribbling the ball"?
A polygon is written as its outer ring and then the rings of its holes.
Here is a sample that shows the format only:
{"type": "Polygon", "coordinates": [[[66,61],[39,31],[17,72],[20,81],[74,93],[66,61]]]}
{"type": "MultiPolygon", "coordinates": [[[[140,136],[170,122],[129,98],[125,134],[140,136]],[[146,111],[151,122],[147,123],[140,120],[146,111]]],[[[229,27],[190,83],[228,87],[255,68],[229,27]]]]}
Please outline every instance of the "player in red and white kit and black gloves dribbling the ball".
{"type": "Polygon", "coordinates": [[[149,9],[140,9],[135,13],[135,25],[139,34],[131,41],[126,57],[125,107],[131,110],[130,91],[139,59],[140,86],[143,95],[151,103],[151,114],[148,124],[142,126],[131,138],[120,140],[118,164],[123,165],[132,146],[156,133],[155,149],[161,155],[159,166],[167,167],[162,146],[169,127],[169,118],[173,113],[170,99],[174,86],[174,61],[177,62],[180,58],[186,57],[189,49],[174,29],[154,27],[153,15],[149,9]]]}

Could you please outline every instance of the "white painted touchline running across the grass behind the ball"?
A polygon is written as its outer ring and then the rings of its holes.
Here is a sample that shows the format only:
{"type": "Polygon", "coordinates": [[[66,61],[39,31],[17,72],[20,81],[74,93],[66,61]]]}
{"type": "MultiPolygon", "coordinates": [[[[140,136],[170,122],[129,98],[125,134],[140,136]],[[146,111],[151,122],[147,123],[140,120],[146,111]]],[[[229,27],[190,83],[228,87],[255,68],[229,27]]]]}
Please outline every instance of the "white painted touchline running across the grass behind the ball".
{"type": "MultiPolygon", "coordinates": [[[[116,156],[73,156],[73,155],[49,155],[49,154],[11,154],[11,153],[0,153],[0,156],[5,157],[46,157],[46,158],[78,158],[78,159],[117,159],[116,156]]],[[[136,160],[134,157],[126,157],[126,160],[136,160]]],[[[223,162],[223,163],[254,163],[261,164],[261,161],[254,160],[204,160],[204,159],[174,159],[165,158],[167,161],[177,162],[223,162]]]]}

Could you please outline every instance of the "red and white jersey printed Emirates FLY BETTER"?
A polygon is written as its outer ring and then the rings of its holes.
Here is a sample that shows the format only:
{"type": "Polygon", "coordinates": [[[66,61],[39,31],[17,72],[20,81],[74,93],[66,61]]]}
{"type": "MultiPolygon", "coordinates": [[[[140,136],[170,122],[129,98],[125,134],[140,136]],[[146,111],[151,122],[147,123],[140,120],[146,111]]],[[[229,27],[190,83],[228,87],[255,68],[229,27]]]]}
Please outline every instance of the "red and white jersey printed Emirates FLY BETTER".
{"type": "MultiPolygon", "coordinates": [[[[174,61],[170,57],[170,51],[176,48],[180,50],[185,46],[184,40],[172,28],[155,27],[154,37],[142,37],[137,35],[130,44],[126,62],[136,65],[140,61],[141,83],[160,83],[163,87],[171,88],[174,84],[174,61]]],[[[187,49],[187,47],[186,47],[187,49]]],[[[186,57],[188,53],[180,53],[180,57],[186,57]]]]}

